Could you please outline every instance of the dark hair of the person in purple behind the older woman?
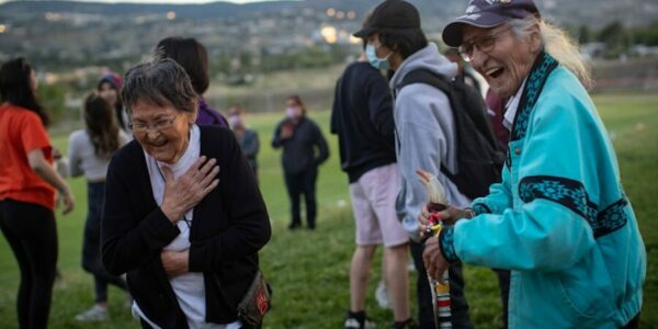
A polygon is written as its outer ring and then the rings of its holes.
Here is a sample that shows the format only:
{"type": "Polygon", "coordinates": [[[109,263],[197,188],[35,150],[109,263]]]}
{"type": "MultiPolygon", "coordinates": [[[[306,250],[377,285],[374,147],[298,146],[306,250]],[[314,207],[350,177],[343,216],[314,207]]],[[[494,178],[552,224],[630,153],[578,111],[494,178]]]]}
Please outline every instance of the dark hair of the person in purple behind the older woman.
{"type": "Polygon", "coordinates": [[[193,37],[170,36],[161,39],[156,47],[163,57],[180,64],[190,79],[192,87],[202,95],[211,83],[208,77],[208,52],[203,44],[193,37]]]}

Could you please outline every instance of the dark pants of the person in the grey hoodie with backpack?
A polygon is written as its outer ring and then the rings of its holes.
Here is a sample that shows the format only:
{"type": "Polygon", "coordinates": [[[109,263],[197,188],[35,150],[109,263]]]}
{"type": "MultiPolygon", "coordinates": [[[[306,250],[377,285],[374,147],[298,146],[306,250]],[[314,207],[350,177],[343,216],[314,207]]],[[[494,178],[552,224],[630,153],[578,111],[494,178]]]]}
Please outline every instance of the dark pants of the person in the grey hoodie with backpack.
{"type": "MultiPolygon", "coordinates": [[[[418,322],[422,329],[433,329],[434,310],[432,309],[432,293],[428,274],[422,261],[422,251],[424,245],[411,241],[411,257],[418,272],[418,282],[416,284],[418,294],[418,322]]],[[[473,328],[468,318],[468,303],[464,295],[464,276],[462,275],[462,264],[455,263],[449,268],[450,275],[450,299],[452,309],[452,325],[455,329],[473,328]]]]}

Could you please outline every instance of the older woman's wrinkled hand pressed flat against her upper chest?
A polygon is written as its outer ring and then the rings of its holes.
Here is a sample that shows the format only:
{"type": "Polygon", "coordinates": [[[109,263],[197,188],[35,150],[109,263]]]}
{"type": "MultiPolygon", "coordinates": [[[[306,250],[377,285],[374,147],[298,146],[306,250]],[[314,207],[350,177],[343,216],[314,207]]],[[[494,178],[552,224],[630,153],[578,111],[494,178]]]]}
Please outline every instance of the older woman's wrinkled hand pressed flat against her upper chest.
{"type": "Polygon", "coordinates": [[[217,160],[203,156],[190,167],[190,169],[178,179],[169,167],[162,167],[164,175],[164,197],[162,200],[162,213],[173,224],[191,208],[196,206],[211,191],[219,184],[215,179],[219,173],[217,160]]]}

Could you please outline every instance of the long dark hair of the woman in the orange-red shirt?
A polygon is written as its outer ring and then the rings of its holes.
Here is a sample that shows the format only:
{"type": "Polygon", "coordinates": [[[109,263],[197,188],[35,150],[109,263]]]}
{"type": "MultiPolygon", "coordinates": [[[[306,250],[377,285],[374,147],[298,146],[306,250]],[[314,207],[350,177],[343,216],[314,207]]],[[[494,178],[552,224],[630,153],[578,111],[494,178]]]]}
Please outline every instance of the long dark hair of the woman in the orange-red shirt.
{"type": "Polygon", "coordinates": [[[44,126],[50,124],[48,111],[38,102],[32,90],[32,67],[23,57],[11,59],[0,67],[0,99],[12,105],[35,112],[44,126]]]}

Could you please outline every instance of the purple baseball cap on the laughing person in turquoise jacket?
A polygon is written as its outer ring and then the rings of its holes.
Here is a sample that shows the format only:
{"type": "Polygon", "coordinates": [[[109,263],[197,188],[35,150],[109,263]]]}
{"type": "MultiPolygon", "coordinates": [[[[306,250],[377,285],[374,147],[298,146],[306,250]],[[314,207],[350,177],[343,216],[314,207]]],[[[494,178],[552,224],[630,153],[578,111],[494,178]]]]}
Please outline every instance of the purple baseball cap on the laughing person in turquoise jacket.
{"type": "Polygon", "coordinates": [[[461,46],[464,24],[494,27],[511,19],[524,19],[530,14],[540,18],[540,10],[532,0],[470,0],[466,13],[443,29],[443,42],[451,47],[461,46]]]}

